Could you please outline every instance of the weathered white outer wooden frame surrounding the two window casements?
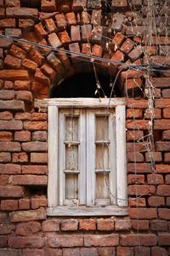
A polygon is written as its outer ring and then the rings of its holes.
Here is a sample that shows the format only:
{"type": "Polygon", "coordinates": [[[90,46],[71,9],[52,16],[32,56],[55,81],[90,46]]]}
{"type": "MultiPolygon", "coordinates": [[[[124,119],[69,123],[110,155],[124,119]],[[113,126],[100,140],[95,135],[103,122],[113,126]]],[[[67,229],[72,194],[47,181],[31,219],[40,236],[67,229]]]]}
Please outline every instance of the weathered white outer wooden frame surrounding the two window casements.
{"type": "MultiPolygon", "coordinates": [[[[44,100],[43,104],[44,105],[44,100]]],[[[45,100],[48,105],[48,216],[112,216],[127,215],[127,155],[124,98],[57,98],[45,100]],[[93,191],[87,193],[86,206],[60,206],[59,183],[59,108],[114,108],[116,113],[116,199],[115,205],[92,206],[93,191]]],[[[88,116],[89,124],[93,117],[88,116]]],[[[83,122],[83,120],[82,120],[83,122]]],[[[88,127],[87,129],[91,129],[88,127]]],[[[89,135],[90,132],[87,132],[89,135]]],[[[93,145],[93,143],[91,143],[93,145]]],[[[111,149],[113,150],[113,149],[111,149]]],[[[113,152],[112,152],[113,153],[113,152]]],[[[82,159],[84,156],[82,155],[82,159]]],[[[88,158],[92,159],[92,158],[88,158]]],[[[93,165],[93,163],[91,163],[93,165]]],[[[60,179],[59,179],[60,178],[60,179]]],[[[83,178],[82,178],[83,180],[83,178]]],[[[94,174],[87,172],[87,180],[94,182],[94,174]]],[[[88,186],[87,189],[91,189],[88,186]]],[[[61,192],[62,193],[62,192],[61,192]]]]}

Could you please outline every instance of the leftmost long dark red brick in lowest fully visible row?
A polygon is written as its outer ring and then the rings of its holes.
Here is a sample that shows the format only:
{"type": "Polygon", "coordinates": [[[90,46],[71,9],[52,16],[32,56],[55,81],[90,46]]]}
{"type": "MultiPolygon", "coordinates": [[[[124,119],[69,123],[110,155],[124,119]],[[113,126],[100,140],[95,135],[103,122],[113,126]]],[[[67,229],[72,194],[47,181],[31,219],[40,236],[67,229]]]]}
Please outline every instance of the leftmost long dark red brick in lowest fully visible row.
{"type": "Polygon", "coordinates": [[[8,238],[8,245],[12,248],[41,248],[44,243],[44,238],[37,236],[13,236],[8,238]]]}

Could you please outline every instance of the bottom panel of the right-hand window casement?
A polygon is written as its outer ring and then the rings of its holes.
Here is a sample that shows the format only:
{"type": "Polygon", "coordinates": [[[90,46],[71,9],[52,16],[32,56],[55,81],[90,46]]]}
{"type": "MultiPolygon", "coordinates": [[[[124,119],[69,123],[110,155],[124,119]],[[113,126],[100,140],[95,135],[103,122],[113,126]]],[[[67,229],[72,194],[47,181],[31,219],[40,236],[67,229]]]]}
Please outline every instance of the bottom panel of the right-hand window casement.
{"type": "Polygon", "coordinates": [[[109,199],[109,174],[97,173],[95,184],[95,199],[109,199]]]}

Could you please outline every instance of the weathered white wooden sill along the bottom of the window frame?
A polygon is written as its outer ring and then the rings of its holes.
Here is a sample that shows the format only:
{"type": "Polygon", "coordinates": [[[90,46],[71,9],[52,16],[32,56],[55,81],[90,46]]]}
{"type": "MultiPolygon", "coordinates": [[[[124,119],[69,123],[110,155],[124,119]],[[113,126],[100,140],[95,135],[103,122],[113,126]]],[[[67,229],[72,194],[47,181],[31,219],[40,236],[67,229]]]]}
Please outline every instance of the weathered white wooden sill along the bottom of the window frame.
{"type": "Polygon", "coordinates": [[[48,216],[127,216],[128,207],[48,207],[48,216]]]}

